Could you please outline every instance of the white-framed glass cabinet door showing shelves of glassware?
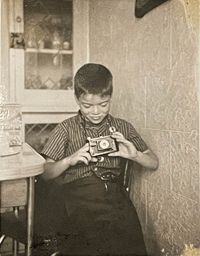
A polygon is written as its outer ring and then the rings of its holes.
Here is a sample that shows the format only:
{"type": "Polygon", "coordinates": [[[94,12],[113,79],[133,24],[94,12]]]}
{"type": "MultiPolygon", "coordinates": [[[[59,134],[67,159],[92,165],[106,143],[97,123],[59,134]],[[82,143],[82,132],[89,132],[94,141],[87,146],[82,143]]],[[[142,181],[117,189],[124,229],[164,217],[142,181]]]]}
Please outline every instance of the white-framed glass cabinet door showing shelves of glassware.
{"type": "Polygon", "coordinates": [[[23,112],[77,112],[73,95],[73,1],[9,0],[9,3],[13,23],[10,91],[14,101],[22,104],[23,112]]]}

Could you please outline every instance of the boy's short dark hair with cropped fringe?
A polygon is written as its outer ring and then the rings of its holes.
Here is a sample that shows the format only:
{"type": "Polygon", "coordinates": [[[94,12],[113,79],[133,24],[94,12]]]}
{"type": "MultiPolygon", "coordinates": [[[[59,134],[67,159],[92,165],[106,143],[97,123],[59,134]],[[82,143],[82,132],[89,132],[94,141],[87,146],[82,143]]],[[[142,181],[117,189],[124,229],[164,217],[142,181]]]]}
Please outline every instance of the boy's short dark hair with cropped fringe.
{"type": "Polygon", "coordinates": [[[101,64],[88,63],[78,69],[74,77],[74,92],[77,98],[81,94],[100,94],[102,97],[113,93],[113,76],[109,69],[101,64]]]}

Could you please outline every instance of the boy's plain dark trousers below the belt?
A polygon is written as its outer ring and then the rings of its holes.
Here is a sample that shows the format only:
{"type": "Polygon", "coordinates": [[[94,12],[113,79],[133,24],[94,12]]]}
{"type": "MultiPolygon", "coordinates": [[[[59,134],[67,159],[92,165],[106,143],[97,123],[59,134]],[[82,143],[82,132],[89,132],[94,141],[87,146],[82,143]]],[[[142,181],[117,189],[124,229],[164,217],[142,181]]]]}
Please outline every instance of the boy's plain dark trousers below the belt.
{"type": "Polygon", "coordinates": [[[62,186],[63,255],[145,255],[138,215],[126,191],[95,175],[62,186]],[[107,187],[107,189],[106,189],[107,187]]]}

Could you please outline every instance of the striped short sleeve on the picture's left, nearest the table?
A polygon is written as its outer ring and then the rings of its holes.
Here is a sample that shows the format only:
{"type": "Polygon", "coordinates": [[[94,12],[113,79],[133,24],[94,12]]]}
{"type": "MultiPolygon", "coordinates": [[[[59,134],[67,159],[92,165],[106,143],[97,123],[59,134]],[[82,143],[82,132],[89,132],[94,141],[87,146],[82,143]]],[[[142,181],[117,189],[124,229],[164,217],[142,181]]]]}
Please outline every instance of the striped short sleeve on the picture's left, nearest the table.
{"type": "Polygon", "coordinates": [[[61,125],[57,125],[41,151],[41,155],[48,156],[55,161],[61,160],[65,158],[65,147],[67,142],[68,138],[66,132],[61,125]]]}

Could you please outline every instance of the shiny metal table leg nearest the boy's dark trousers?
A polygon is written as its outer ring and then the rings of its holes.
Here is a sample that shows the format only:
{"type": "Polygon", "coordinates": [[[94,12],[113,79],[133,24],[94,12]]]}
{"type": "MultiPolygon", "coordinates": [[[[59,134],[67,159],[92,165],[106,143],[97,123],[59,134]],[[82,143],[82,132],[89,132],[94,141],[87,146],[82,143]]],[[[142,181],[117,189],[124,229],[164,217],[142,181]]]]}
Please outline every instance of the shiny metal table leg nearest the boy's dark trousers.
{"type": "Polygon", "coordinates": [[[28,178],[27,247],[26,247],[27,256],[31,256],[32,238],[34,236],[34,193],[35,193],[35,176],[28,178]]]}

